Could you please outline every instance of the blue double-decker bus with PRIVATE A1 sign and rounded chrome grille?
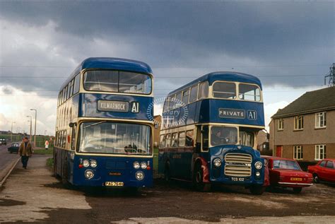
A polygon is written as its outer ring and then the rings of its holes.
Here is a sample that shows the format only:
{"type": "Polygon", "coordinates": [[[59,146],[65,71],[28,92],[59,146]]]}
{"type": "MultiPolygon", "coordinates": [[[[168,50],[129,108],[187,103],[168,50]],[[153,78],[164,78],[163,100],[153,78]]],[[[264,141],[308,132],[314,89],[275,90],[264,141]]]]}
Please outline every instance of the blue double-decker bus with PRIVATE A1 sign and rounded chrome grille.
{"type": "Polygon", "coordinates": [[[208,73],[167,96],[158,155],[165,179],[183,179],[199,191],[211,184],[240,184],[264,191],[264,160],[257,132],[264,129],[258,78],[208,73]]]}

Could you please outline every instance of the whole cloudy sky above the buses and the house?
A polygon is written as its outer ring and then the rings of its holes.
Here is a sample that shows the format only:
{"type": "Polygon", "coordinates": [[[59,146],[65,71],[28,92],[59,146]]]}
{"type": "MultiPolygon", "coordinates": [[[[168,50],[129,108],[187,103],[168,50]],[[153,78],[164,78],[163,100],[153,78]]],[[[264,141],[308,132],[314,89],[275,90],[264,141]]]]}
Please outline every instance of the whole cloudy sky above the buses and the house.
{"type": "Polygon", "coordinates": [[[0,130],[28,131],[36,108],[37,134],[54,134],[59,88],[88,57],[146,62],[155,98],[211,71],[250,73],[267,125],[327,87],[334,11],[335,1],[0,1],[0,130]]]}

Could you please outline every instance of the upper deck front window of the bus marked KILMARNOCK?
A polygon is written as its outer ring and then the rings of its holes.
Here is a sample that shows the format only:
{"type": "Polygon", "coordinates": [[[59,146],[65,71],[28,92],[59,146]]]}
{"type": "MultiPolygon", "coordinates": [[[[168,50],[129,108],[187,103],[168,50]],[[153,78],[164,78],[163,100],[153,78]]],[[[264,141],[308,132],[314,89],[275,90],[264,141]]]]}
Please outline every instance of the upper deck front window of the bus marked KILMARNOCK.
{"type": "Polygon", "coordinates": [[[90,91],[114,93],[151,93],[151,77],[127,71],[86,71],[84,88],[90,91]]]}

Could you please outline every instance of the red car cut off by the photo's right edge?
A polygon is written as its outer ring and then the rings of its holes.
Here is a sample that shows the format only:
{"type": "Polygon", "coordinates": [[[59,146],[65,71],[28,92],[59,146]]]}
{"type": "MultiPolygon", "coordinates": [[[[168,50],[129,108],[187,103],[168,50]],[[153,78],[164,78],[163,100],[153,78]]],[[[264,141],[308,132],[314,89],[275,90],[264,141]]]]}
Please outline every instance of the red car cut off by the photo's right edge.
{"type": "Polygon", "coordinates": [[[317,165],[308,166],[308,172],[313,175],[315,183],[320,180],[335,182],[335,159],[320,160],[317,165]]]}

